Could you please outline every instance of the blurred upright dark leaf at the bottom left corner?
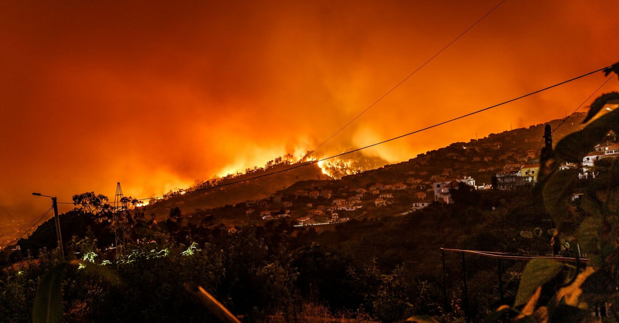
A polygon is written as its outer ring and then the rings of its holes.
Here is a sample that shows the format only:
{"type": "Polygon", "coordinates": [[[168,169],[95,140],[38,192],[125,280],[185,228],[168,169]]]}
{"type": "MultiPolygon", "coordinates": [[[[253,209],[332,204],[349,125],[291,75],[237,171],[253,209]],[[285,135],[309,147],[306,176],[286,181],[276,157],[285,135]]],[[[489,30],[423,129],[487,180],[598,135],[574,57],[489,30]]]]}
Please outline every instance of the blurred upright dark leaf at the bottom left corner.
{"type": "Polygon", "coordinates": [[[61,290],[67,263],[56,265],[43,275],[32,308],[33,323],[63,322],[63,292],[61,290]]]}

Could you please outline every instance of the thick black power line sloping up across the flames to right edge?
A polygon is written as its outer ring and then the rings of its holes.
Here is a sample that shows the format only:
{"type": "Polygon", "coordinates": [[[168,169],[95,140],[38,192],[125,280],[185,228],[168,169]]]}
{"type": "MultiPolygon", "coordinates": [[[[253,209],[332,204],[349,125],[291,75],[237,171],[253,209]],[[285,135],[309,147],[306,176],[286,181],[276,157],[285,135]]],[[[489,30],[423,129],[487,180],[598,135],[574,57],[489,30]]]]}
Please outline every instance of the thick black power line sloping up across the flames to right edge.
{"type": "Polygon", "coordinates": [[[214,189],[214,188],[218,188],[218,187],[223,187],[223,186],[228,186],[228,185],[232,185],[232,184],[237,184],[237,183],[241,183],[241,182],[244,182],[244,181],[250,181],[250,180],[252,180],[252,179],[258,179],[258,178],[263,178],[263,177],[266,177],[266,176],[271,176],[272,174],[279,174],[279,173],[283,173],[283,172],[285,172],[285,171],[294,170],[294,169],[296,169],[296,168],[300,168],[300,167],[303,167],[303,166],[313,165],[313,164],[315,164],[315,163],[322,162],[322,161],[324,161],[324,160],[329,160],[329,159],[336,158],[336,157],[340,157],[340,156],[343,156],[343,155],[348,155],[349,153],[358,152],[358,151],[363,150],[363,149],[368,149],[368,148],[374,147],[374,146],[376,146],[376,145],[385,144],[385,143],[387,143],[387,142],[391,142],[391,141],[393,141],[393,140],[400,139],[400,138],[402,138],[402,137],[407,137],[407,136],[410,136],[410,135],[412,135],[412,134],[416,134],[417,132],[426,131],[426,130],[428,130],[428,129],[432,129],[432,128],[434,128],[434,127],[438,127],[438,126],[441,126],[441,125],[446,124],[446,123],[451,123],[452,121],[456,121],[456,120],[458,120],[458,119],[466,118],[467,116],[472,116],[472,115],[474,115],[474,114],[481,113],[481,112],[483,112],[483,111],[490,110],[490,109],[492,109],[492,108],[496,108],[497,106],[506,105],[507,103],[511,103],[511,102],[513,102],[513,101],[520,100],[520,99],[522,99],[522,98],[530,97],[531,95],[534,95],[534,94],[537,94],[537,93],[543,92],[543,91],[545,91],[545,90],[550,90],[551,88],[555,88],[555,87],[558,87],[558,86],[560,86],[560,85],[566,84],[566,83],[568,83],[568,82],[572,82],[572,81],[574,81],[574,80],[581,79],[582,77],[586,77],[586,76],[588,76],[588,75],[591,75],[591,74],[594,74],[594,73],[600,72],[600,71],[602,71],[602,70],[604,70],[604,69],[607,69],[608,67],[610,67],[610,66],[605,66],[605,67],[602,67],[602,68],[600,68],[600,69],[596,69],[595,71],[587,72],[586,74],[582,74],[582,75],[579,75],[579,76],[577,76],[577,77],[573,77],[573,78],[571,78],[571,79],[565,80],[565,81],[560,82],[560,83],[557,83],[557,84],[555,84],[555,85],[550,85],[550,86],[545,87],[545,88],[542,88],[542,89],[540,89],[540,90],[536,90],[536,91],[534,91],[534,92],[530,92],[530,93],[527,93],[527,94],[525,94],[525,95],[521,95],[520,97],[513,98],[513,99],[511,99],[511,100],[507,100],[507,101],[503,101],[503,102],[498,103],[498,104],[496,104],[496,105],[488,106],[487,108],[483,108],[483,109],[481,109],[481,110],[473,111],[473,112],[471,112],[471,113],[464,114],[464,115],[459,116],[459,117],[457,117],[457,118],[452,118],[452,119],[449,119],[449,120],[443,121],[443,122],[441,122],[441,123],[433,124],[432,126],[424,127],[424,128],[422,128],[422,129],[418,129],[418,130],[416,130],[416,131],[409,132],[409,133],[407,133],[407,134],[403,134],[403,135],[400,135],[400,136],[397,136],[397,137],[393,137],[393,138],[391,138],[391,139],[383,140],[383,141],[381,141],[381,142],[376,142],[375,144],[367,145],[367,146],[365,146],[365,147],[361,147],[361,148],[357,148],[357,149],[349,150],[349,151],[347,151],[347,152],[339,153],[339,154],[337,154],[337,155],[333,155],[333,156],[331,156],[331,157],[326,157],[326,158],[322,158],[322,159],[320,159],[320,160],[313,160],[313,161],[311,161],[311,162],[301,163],[300,165],[295,165],[295,166],[292,166],[292,167],[287,168],[287,169],[285,169],[285,170],[274,171],[274,172],[272,172],[272,173],[261,174],[261,175],[258,175],[258,176],[254,176],[254,177],[252,177],[252,178],[240,179],[240,180],[238,180],[238,181],[232,181],[232,182],[229,182],[229,183],[218,184],[218,185],[215,185],[215,186],[210,186],[210,187],[204,187],[204,188],[201,188],[201,189],[194,189],[193,191],[184,191],[184,192],[182,192],[182,193],[170,194],[170,195],[168,195],[168,196],[147,197],[147,198],[144,198],[144,199],[136,199],[136,200],[150,200],[150,199],[159,199],[159,198],[162,198],[162,197],[178,196],[178,195],[188,194],[188,193],[192,193],[192,192],[206,191],[206,190],[209,190],[209,189],[214,189]]]}

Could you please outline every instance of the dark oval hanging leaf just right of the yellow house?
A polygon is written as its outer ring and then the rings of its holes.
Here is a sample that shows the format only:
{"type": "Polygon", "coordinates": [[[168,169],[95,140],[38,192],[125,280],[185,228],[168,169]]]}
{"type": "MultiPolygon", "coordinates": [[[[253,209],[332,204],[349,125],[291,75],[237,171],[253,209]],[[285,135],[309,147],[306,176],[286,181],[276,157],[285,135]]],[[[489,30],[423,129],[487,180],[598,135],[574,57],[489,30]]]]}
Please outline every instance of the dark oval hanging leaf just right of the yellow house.
{"type": "Polygon", "coordinates": [[[543,186],[544,205],[557,224],[569,218],[569,204],[576,181],[578,170],[555,171],[543,186]]]}

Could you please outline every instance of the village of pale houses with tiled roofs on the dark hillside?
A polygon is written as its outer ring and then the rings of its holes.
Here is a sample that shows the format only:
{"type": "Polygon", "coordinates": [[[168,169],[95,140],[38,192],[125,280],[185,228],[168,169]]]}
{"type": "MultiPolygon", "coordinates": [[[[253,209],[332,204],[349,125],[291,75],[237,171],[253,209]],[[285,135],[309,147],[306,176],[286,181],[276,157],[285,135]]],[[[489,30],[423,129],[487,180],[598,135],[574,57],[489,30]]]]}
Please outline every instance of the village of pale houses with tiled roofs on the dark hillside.
{"type": "MultiPolygon", "coordinates": [[[[581,119],[582,115],[576,118],[581,119]]],[[[456,142],[407,162],[339,180],[300,181],[271,197],[236,204],[234,209],[241,208],[246,217],[263,221],[290,218],[297,226],[326,225],[407,215],[431,203],[452,204],[451,192],[462,184],[478,190],[533,186],[540,171],[540,134],[544,126],[537,124],[467,143],[456,142]]],[[[597,145],[580,165],[566,164],[561,168],[579,167],[579,178],[593,179],[595,160],[617,156],[617,137],[610,133],[607,142],[597,145]]]]}

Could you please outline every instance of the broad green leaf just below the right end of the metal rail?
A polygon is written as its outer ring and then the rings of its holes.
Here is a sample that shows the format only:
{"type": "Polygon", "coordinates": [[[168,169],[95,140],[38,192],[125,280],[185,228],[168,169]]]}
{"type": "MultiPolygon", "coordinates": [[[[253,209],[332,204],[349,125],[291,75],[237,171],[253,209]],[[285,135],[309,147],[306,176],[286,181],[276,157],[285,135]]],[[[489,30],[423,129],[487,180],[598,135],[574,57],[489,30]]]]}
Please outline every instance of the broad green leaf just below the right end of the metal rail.
{"type": "Polygon", "coordinates": [[[514,307],[526,304],[539,286],[550,282],[561,272],[563,264],[552,259],[533,259],[524,267],[514,307]]]}

